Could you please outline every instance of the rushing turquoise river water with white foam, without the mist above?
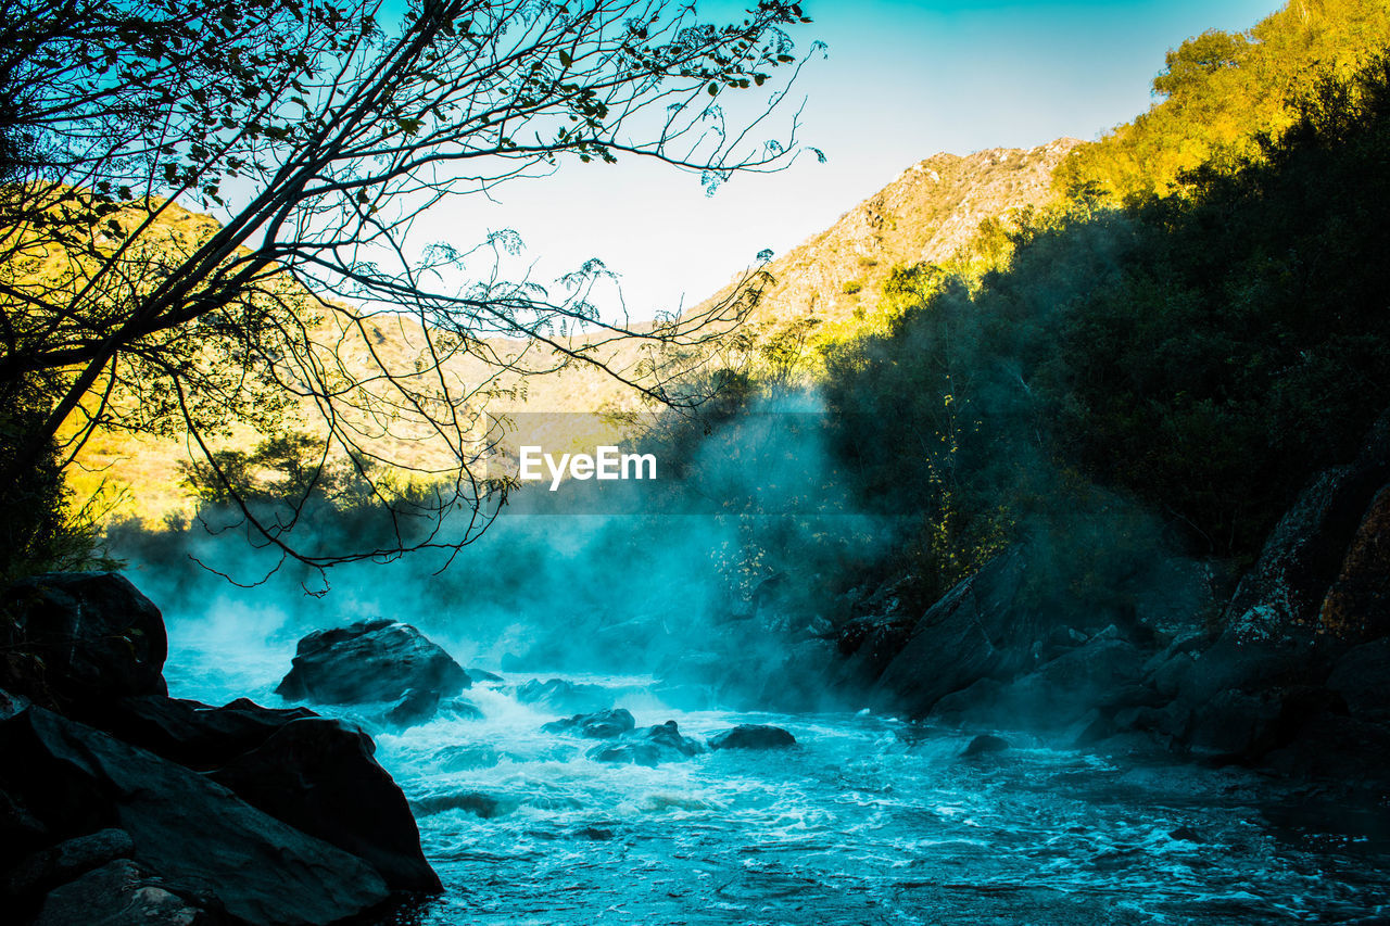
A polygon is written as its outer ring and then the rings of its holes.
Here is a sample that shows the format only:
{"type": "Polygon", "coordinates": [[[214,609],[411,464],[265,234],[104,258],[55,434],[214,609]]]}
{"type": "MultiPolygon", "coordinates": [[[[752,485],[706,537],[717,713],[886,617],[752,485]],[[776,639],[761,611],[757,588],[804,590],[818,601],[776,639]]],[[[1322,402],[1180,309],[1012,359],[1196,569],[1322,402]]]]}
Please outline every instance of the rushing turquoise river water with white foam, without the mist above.
{"type": "MultiPolygon", "coordinates": [[[[181,640],[171,694],[271,694],[284,651],[181,640]]],[[[676,710],[651,679],[574,677],[638,727],[706,737],[737,723],[792,731],[770,752],[656,767],[585,758],[542,733],[563,706],[520,704],[534,676],[467,692],[484,719],[367,729],[417,808],[446,893],[388,922],[452,923],[1295,923],[1390,916],[1386,806],[1339,808],[1250,772],[1119,763],[1011,736],[867,712],[676,710]]],[[[550,676],[541,676],[548,679],[550,676]]],[[[342,716],[352,716],[350,712],[342,716]]],[[[1390,920],[1386,920],[1390,922],[1390,920]]]]}

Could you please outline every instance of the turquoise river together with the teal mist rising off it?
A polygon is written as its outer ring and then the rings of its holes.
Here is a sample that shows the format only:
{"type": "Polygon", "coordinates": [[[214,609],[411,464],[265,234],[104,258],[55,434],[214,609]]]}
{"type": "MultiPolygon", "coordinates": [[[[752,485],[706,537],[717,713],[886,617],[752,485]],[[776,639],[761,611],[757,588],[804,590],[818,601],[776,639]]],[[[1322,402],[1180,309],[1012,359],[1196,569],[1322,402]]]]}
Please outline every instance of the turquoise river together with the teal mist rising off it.
{"type": "MultiPolygon", "coordinates": [[[[1316,793],[1016,731],[1004,731],[1005,752],[966,758],[990,731],[909,723],[849,692],[785,697],[788,648],[816,640],[835,603],[827,590],[855,556],[894,542],[897,524],[837,494],[819,444],[777,449],[784,438],[739,434],[738,446],[776,450],[752,462],[712,442],[696,470],[724,498],[739,474],[780,487],[763,507],[518,503],[442,571],[428,555],[343,566],[317,598],[293,570],[238,588],[190,562],[126,555],[164,608],[174,697],[281,706],[274,690],[302,635],[378,616],[499,676],[464,692],[481,717],[446,706],[406,730],[382,726],[388,705],[314,705],[371,733],[446,887],[384,922],[1219,926],[1390,912],[1390,834],[1340,819],[1316,793]],[[808,480],[812,510],[796,507],[808,480]],[[781,542],[817,531],[824,544],[781,542]],[[767,580],[788,574],[805,588],[769,595],[767,580]],[[517,690],[534,679],[578,685],[582,704],[524,702],[517,690]],[[762,723],[798,745],[648,767],[595,761],[599,741],[542,730],[609,706],[639,730],[674,720],[706,740],[762,723]]],[[[222,571],[264,569],[232,535],[189,538],[222,571]]]]}

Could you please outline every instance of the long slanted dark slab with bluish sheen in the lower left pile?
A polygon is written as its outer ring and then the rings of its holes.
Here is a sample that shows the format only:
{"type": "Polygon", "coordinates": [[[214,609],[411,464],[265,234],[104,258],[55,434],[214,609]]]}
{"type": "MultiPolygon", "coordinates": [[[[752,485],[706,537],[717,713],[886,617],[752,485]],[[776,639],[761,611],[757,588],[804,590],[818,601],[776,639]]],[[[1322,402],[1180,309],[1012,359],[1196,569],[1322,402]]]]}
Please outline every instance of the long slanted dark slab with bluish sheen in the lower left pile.
{"type": "MultiPolygon", "coordinates": [[[[389,895],[361,859],[253,808],[197,772],[39,706],[0,722],[0,788],[22,794],[58,838],[125,830],[133,861],[158,875],[165,886],[160,890],[183,895],[207,890],[247,923],[332,923],[389,895]]],[[[122,884],[133,883],[135,869],[111,865],[122,884]]],[[[78,883],[90,887],[99,880],[93,876],[78,883]]],[[[114,895],[110,886],[86,890],[81,897],[114,895]]],[[[50,895],[56,907],[46,922],[99,922],[90,912],[86,919],[60,918],[82,908],[82,901],[67,905],[74,893],[50,895]]]]}

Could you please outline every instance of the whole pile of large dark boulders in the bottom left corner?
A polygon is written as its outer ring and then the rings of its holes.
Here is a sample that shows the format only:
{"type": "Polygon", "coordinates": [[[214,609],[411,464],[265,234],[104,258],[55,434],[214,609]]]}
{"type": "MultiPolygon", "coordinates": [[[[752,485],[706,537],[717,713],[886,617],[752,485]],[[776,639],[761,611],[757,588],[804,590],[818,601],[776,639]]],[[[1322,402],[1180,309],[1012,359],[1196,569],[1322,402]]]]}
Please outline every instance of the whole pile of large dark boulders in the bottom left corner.
{"type": "Polygon", "coordinates": [[[121,576],[3,603],[0,894],[21,922],[332,923],[439,890],[361,730],[170,698],[164,622],[121,576]]]}

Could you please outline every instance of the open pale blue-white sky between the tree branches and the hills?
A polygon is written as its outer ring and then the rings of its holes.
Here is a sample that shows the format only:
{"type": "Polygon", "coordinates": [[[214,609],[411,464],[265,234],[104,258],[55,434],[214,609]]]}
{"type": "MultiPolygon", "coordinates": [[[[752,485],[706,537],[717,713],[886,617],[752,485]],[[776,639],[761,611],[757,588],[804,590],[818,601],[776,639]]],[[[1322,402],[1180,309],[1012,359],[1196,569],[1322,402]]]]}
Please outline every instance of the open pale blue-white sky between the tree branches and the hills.
{"type": "MultiPolygon", "coordinates": [[[[742,18],[745,4],[702,3],[742,18]]],[[[826,43],[788,103],[799,136],[824,152],[771,175],[741,175],[706,196],[699,178],[627,157],[570,163],[552,177],[460,196],[417,227],[430,241],[473,245],[513,229],[532,278],[555,279],[589,257],[619,274],[634,318],[694,306],[758,252],[783,254],[937,152],[1095,139],[1152,103],[1163,54],[1209,28],[1245,29],[1275,0],[1045,3],[802,0],[812,17],[799,51],[826,43]]],[[[788,111],[788,117],[791,113],[788,111]]],[[[616,299],[606,311],[616,313],[616,299]]]]}

